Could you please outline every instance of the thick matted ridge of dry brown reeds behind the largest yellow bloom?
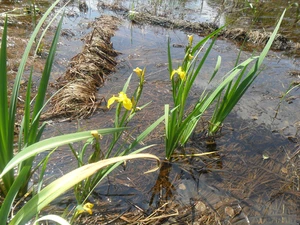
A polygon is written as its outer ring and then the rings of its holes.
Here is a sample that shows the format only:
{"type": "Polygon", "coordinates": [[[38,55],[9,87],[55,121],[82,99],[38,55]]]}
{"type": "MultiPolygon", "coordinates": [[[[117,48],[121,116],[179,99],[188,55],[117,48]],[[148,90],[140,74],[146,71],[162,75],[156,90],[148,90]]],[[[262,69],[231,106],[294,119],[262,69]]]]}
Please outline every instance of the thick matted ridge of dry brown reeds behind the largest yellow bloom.
{"type": "Polygon", "coordinates": [[[91,24],[92,32],[84,38],[83,51],[70,60],[66,73],[57,80],[61,90],[43,118],[86,118],[101,105],[104,99],[97,96],[97,88],[115,71],[118,52],[110,39],[119,23],[117,17],[103,15],[91,24]]]}

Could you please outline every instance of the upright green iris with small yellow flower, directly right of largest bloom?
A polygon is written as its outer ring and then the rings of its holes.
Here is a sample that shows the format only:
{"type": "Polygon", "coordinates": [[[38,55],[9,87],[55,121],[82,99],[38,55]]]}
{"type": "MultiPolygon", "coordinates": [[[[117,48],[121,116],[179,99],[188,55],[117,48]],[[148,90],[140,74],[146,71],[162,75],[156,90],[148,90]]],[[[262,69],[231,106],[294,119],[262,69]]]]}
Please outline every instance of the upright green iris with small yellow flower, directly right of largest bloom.
{"type": "MultiPolygon", "coordinates": [[[[202,59],[197,65],[196,63],[198,56],[203,50],[205,43],[207,43],[211,37],[217,35],[221,29],[222,28],[208,35],[203,40],[198,42],[195,46],[193,46],[193,36],[189,36],[188,45],[185,50],[185,56],[181,65],[177,69],[173,69],[170,41],[168,43],[169,76],[172,82],[174,108],[170,110],[170,106],[165,105],[165,149],[167,159],[171,158],[174,150],[177,147],[183,146],[188,141],[201,115],[214,101],[214,99],[210,99],[210,102],[208,102],[208,95],[205,91],[203,91],[194,109],[191,112],[187,112],[186,110],[186,103],[189,97],[190,90],[196,77],[199,75],[204,62],[208,57],[216,38],[212,40],[211,44],[209,45],[202,59]]],[[[211,80],[217,73],[219,64],[220,63],[218,61],[211,80]]]]}

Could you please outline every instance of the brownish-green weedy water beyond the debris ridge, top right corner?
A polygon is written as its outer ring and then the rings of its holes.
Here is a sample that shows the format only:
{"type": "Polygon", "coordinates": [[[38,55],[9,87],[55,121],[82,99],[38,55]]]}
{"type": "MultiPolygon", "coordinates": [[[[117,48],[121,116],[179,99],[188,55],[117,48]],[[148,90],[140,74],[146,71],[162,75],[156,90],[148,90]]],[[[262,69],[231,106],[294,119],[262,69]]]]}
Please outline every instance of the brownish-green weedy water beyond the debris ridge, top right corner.
{"type": "Polygon", "coordinates": [[[299,1],[245,1],[245,0],[207,0],[209,4],[218,7],[219,13],[224,15],[224,24],[229,27],[243,29],[261,29],[272,31],[284,9],[287,9],[281,25],[280,33],[287,35],[295,42],[300,34],[300,5],[299,1]]]}

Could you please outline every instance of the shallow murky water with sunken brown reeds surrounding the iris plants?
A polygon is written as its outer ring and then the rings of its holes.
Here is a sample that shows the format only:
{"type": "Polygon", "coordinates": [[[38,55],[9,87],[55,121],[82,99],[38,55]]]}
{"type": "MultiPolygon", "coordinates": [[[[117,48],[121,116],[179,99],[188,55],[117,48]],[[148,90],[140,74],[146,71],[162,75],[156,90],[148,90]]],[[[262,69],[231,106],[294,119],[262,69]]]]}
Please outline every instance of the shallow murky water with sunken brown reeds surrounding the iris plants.
{"type": "MultiPolygon", "coordinates": [[[[108,2],[132,9],[132,2],[129,1],[108,2]]],[[[175,19],[213,22],[219,16],[220,23],[223,23],[227,16],[232,16],[226,14],[226,10],[220,13],[222,7],[218,1],[175,1],[174,4],[166,1],[160,1],[160,4],[159,1],[133,2],[137,11],[144,9],[175,19]]],[[[64,31],[68,35],[61,39],[54,78],[64,72],[68,59],[80,52],[81,38],[89,32],[89,21],[104,13],[120,16],[107,8],[98,7],[97,1],[87,3],[89,9],[86,13],[79,10],[77,3],[67,8],[64,31]]],[[[131,124],[136,133],[161,116],[164,104],[171,101],[167,72],[169,37],[174,46],[185,45],[187,41],[184,32],[148,25],[135,26],[124,20],[112,39],[114,48],[122,54],[118,57],[117,72],[110,75],[98,94],[109,98],[121,90],[133,68],[147,68],[142,102],[152,103],[131,124]]],[[[196,40],[200,38],[196,37],[196,40]]],[[[206,87],[217,56],[222,57],[220,79],[234,65],[238,52],[238,46],[229,41],[216,42],[205,68],[196,80],[191,101],[206,87]]],[[[174,65],[180,63],[183,53],[184,48],[172,47],[174,65]]],[[[250,55],[251,52],[243,52],[242,58],[250,55]]],[[[205,145],[205,134],[200,124],[185,149],[187,153],[215,150],[214,155],[177,157],[173,163],[165,163],[159,173],[147,175],[140,171],[147,166],[150,168],[151,164],[141,161],[128,163],[125,170],[120,168],[114,171],[114,176],[100,185],[97,194],[91,198],[95,203],[95,217],[87,217],[86,220],[92,221],[90,224],[95,221],[103,223],[127,213],[127,221],[130,221],[137,218],[136,215],[149,217],[156,209],[167,204],[162,208],[165,219],[159,224],[216,224],[218,221],[222,224],[296,224],[295,199],[299,197],[299,174],[295,159],[299,154],[293,155],[297,144],[292,141],[299,141],[299,91],[292,92],[290,100],[283,101],[277,118],[274,116],[281,94],[292,81],[299,80],[297,76],[290,75],[290,71],[299,70],[299,60],[288,58],[283,52],[271,52],[264,67],[253,87],[225,121],[222,134],[216,139],[217,145],[205,145]]],[[[136,82],[137,79],[133,78],[130,90],[136,82]]],[[[112,116],[113,111],[98,110],[85,120],[67,123],[49,121],[45,137],[78,129],[107,127],[111,125],[112,116]]],[[[159,127],[147,139],[147,144],[157,144],[150,152],[161,158],[164,153],[162,131],[162,127],[159,127]]],[[[51,159],[50,165],[52,167],[48,175],[51,180],[74,168],[76,163],[68,149],[61,149],[51,159]]],[[[55,209],[63,211],[72,200],[65,197],[56,203],[58,206],[55,209]]],[[[123,219],[118,222],[124,222],[123,219]]]]}

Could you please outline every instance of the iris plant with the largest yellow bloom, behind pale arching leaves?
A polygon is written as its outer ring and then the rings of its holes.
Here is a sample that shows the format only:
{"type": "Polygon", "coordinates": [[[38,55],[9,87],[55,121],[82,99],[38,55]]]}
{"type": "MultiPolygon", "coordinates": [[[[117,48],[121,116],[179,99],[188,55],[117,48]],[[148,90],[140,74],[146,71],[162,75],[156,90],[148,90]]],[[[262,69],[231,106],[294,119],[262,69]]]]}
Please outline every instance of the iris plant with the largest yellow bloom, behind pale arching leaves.
{"type": "MultiPolygon", "coordinates": [[[[107,101],[108,108],[111,108],[112,104],[114,102],[117,102],[117,106],[115,110],[115,119],[114,119],[115,129],[118,129],[120,127],[127,127],[128,123],[134,118],[136,113],[140,110],[143,110],[149,104],[147,103],[141,107],[138,107],[139,99],[141,97],[143,85],[144,85],[145,71],[146,69],[143,70],[140,68],[134,69],[134,72],[139,77],[139,84],[137,85],[131,98],[128,98],[127,94],[125,93],[127,92],[129,83],[132,78],[132,74],[127,79],[122,91],[119,93],[119,96],[118,97],[113,96],[107,101]]],[[[113,133],[112,140],[110,140],[110,144],[105,151],[101,149],[101,145],[100,145],[102,137],[99,136],[99,134],[95,131],[93,133],[93,138],[90,139],[90,141],[87,141],[86,144],[82,147],[82,149],[78,153],[75,151],[75,148],[73,146],[70,146],[74,156],[77,159],[78,167],[84,166],[88,163],[94,163],[99,160],[109,159],[111,157],[118,157],[118,156],[124,156],[129,154],[131,155],[131,153],[134,151],[134,148],[140,142],[142,142],[149,135],[149,133],[152,132],[163,120],[164,120],[164,116],[160,117],[152,125],[147,127],[145,131],[139,134],[133,141],[130,141],[129,144],[123,144],[121,143],[120,140],[122,136],[126,137],[126,134],[124,133],[126,130],[116,130],[116,132],[113,133]],[[89,156],[88,161],[84,162],[84,158],[86,158],[84,156],[88,145],[92,146],[93,153],[89,156]]],[[[135,153],[145,150],[149,147],[151,146],[144,147],[141,150],[137,150],[135,151],[135,153]]],[[[103,178],[105,178],[118,165],[120,165],[120,163],[112,164],[104,169],[99,170],[94,176],[91,176],[83,180],[82,182],[78,183],[78,185],[76,185],[74,188],[77,204],[79,206],[84,205],[88,197],[92,193],[92,191],[99,184],[99,182],[103,178]]],[[[74,217],[76,217],[76,214],[74,214],[74,217]]],[[[72,219],[72,221],[73,220],[74,218],[72,219]]]]}

